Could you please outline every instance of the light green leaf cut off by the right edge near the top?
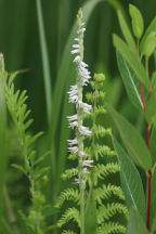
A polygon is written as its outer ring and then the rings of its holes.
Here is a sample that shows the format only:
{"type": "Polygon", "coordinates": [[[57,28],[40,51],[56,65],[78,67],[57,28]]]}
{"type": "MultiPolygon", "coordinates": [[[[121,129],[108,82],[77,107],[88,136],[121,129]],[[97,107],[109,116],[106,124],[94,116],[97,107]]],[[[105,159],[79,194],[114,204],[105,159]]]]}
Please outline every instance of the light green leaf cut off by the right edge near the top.
{"type": "Polygon", "coordinates": [[[156,31],[152,31],[142,44],[142,55],[147,58],[154,53],[156,48],[156,31]]]}

